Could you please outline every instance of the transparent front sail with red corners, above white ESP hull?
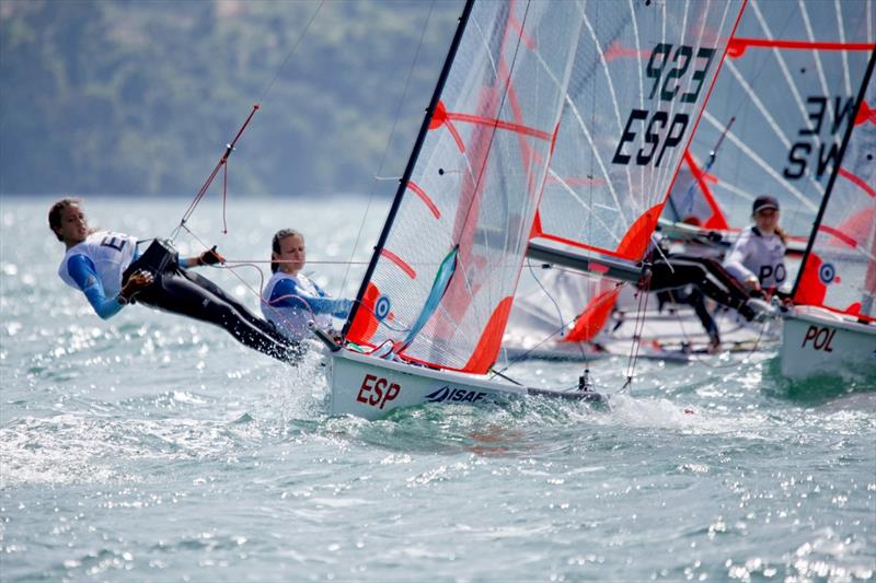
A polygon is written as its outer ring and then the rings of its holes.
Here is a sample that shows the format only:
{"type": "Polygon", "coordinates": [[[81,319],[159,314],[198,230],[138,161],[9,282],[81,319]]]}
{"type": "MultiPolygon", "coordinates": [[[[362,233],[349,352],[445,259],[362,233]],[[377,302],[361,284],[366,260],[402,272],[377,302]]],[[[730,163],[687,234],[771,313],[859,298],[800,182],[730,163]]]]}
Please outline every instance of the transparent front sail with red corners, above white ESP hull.
{"type": "Polygon", "coordinates": [[[496,358],[578,43],[574,2],[476,2],[347,339],[483,373],[496,358]],[[457,267],[426,305],[443,258],[457,267]],[[369,308],[370,307],[370,308],[369,308]],[[388,316],[392,315],[390,320],[388,316]]]}

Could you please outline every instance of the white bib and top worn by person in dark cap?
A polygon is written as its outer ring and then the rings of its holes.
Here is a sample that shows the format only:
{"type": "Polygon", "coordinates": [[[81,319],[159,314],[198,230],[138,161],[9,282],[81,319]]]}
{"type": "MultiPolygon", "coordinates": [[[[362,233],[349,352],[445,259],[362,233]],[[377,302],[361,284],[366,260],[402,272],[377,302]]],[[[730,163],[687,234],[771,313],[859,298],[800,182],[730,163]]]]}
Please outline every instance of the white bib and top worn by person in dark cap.
{"type": "Polygon", "coordinates": [[[777,290],[787,279],[785,244],[775,233],[764,235],[751,226],[736,240],[724,267],[739,281],[754,277],[762,289],[777,290]]]}

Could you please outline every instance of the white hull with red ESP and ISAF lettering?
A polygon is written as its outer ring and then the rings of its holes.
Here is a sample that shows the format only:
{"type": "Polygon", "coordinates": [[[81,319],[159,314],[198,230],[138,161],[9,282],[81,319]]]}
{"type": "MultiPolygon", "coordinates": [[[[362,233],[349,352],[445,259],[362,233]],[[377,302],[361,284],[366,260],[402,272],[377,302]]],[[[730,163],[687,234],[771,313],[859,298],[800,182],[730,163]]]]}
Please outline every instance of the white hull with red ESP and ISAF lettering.
{"type": "Polygon", "coordinates": [[[427,403],[477,405],[523,395],[603,400],[597,393],[529,388],[481,375],[390,362],[349,350],[328,352],[328,361],[331,411],[335,416],[373,420],[394,409],[427,403]]]}

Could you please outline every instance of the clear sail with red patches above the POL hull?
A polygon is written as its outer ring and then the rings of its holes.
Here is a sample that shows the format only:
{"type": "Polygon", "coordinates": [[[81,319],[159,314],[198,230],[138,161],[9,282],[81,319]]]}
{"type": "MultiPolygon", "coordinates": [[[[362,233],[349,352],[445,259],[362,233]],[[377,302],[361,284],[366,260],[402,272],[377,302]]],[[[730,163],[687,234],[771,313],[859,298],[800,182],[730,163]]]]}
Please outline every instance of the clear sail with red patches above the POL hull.
{"type": "Polygon", "coordinates": [[[876,323],[876,50],[855,123],[816,221],[793,298],[876,323]]]}

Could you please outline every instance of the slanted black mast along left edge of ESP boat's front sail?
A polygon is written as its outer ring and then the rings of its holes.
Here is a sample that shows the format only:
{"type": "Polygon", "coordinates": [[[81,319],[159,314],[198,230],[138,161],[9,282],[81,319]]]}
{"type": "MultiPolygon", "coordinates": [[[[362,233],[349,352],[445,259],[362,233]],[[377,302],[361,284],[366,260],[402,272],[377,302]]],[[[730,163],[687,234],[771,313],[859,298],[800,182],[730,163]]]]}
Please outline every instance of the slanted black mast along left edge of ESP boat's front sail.
{"type": "Polygon", "coordinates": [[[383,231],[381,231],[380,238],[378,238],[377,245],[374,245],[374,253],[371,255],[371,263],[368,264],[368,269],[366,270],[362,282],[359,285],[359,292],[356,294],[356,301],[353,303],[353,307],[347,316],[347,322],[344,323],[344,329],[341,333],[342,338],[347,336],[349,326],[353,323],[359,306],[361,305],[362,298],[365,298],[365,291],[368,289],[368,282],[371,281],[371,276],[377,267],[377,261],[380,259],[380,252],[383,249],[383,245],[387,243],[387,237],[392,229],[395,214],[399,212],[399,207],[402,203],[404,193],[407,189],[407,183],[411,180],[411,174],[414,172],[414,166],[416,165],[417,158],[419,156],[419,151],[423,148],[423,142],[426,140],[426,133],[429,130],[429,124],[435,115],[435,108],[438,106],[438,100],[441,97],[441,93],[443,92],[445,83],[447,82],[447,75],[450,73],[450,67],[453,65],[453,59],[457,56],[457,49],[459,48],[460,40],[462,39],[462,34],[465,32],[465,25],[469,23],[469,16],[471,15],[473,7],[474,0],[465,1],[465,8],[462,9],[457,32],[453,35],[453,40],[450,43],[450,48],[447,51],[445,65],[441,68],[441,74],[438,77],[438,82],[435,85],[431,101],[429,102],[429,106],[426,109],[426,115],[423,118],[423,125],[419,127],[417,140],[414,143],[414,149],[411,151],[411,158],[407,159],[407,166],[404,168],[404,174],[402,175],[401,180],[399,180],[399,189],[395,191],[395,198],[392,201],[392,207],[390,207],[387,221],[383,223],[383,231]]]}

